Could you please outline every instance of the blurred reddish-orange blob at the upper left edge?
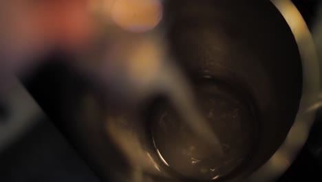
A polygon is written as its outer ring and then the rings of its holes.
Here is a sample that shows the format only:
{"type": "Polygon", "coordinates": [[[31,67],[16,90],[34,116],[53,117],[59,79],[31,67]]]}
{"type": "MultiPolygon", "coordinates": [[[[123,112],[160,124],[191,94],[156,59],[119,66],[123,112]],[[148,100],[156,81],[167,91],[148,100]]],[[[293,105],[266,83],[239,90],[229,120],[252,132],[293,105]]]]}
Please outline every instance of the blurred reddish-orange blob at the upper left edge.
{"type": "Polygon", "coordinates": [[[93,21],[87,2],[47,1],[35,9],[47,34],[62,43],[77,44],[93,33],[93,21]]]}

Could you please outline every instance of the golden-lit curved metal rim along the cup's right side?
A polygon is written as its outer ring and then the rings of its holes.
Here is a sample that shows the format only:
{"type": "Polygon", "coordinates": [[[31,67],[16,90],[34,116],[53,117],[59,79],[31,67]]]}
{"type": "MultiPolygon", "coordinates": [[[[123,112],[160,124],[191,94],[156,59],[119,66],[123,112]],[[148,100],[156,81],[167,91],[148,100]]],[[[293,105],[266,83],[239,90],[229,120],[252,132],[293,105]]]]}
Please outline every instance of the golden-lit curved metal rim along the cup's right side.
{"type": "Polygon", "coordinates": [[[314,103],[319,95],[319,62],[303,17],[290,0],[273,0],[272,3],[288,22],[297,41],[303,65],[303,95],[297,118],[286,141],[271,159],[250,177],[250,181],[254,182],[275,181],[288,169],[290,161],[295,159],[308,138],[309,128],[314,119],[314,109],[317,106],[314,103]]]}

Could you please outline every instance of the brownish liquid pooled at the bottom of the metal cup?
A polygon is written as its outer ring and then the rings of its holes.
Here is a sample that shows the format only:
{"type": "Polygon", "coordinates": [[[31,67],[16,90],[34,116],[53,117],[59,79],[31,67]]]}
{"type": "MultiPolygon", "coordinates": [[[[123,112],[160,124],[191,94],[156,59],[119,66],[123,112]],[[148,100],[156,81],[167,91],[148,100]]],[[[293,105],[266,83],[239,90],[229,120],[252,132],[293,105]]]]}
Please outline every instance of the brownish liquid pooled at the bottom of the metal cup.
{"type": "Polygon", "coordinates": [[[151,109],[147,128],[151,143],[169,174],[190,181],[227,178],[244,168],[255,152],[259,132],[255,105],[244,90],[216,79],[201,79],[194,88],[198,108],[219,137],[223,156],[193,134],[167,102],[151,109]]]}

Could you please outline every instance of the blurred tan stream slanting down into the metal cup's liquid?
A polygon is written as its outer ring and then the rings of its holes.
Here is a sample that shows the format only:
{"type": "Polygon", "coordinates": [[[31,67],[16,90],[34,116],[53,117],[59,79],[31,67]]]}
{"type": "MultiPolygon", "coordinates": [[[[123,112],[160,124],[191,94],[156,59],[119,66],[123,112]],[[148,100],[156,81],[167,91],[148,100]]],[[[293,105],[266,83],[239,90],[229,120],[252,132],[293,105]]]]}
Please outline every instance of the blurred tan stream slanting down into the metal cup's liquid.
{"type": "Polygon", "coordinates": [[[180,74],[180,70],[175,65],[168,63],[162,69],[162,74],[158,77],[159,85],[165,90],[165,94],[170,98],[171,104],[182,118],[184,124],[188,125],[193,134],[208,143],[218,156],[223,155],[222,145],[217,134],[208,124],[200,109],[197,108],[195,96],[187,83],[186,78],[180,74]]]}

